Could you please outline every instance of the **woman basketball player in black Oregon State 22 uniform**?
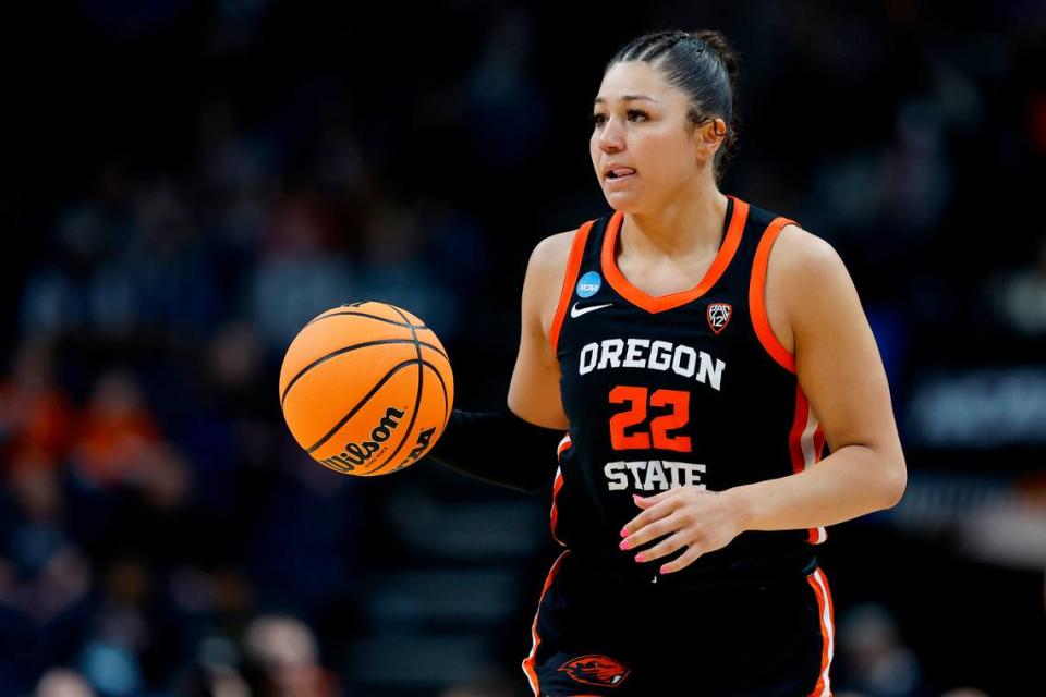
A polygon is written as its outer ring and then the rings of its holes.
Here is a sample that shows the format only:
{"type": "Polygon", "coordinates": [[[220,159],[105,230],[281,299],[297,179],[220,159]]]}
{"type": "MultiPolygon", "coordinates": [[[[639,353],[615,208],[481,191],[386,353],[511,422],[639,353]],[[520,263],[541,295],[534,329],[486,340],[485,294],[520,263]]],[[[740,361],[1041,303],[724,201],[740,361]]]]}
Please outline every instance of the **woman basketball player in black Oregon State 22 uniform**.
{"type": "Polygon", "coordinates": [[[714,32],[610,61],[591,151],[613,212],[537,245],[509,408],[455,412],[433,453],[520,490],[555,478],[538,696],[830,695],[815,546],[904,490],[839,256],[718,188],[735,66],[714,32]]]}

